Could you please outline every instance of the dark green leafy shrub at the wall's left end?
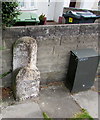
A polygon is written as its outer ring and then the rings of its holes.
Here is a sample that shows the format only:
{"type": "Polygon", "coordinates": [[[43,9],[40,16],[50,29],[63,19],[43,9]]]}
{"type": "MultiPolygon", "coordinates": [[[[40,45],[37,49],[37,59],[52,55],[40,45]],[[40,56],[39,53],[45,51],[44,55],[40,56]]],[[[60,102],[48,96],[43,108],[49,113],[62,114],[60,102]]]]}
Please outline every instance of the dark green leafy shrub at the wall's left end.
{"type": "Polygon", "coordinates": [[[18,2],[2,2],[2,24],[3,26],[12,26],[20,15],[18,2]]]}

